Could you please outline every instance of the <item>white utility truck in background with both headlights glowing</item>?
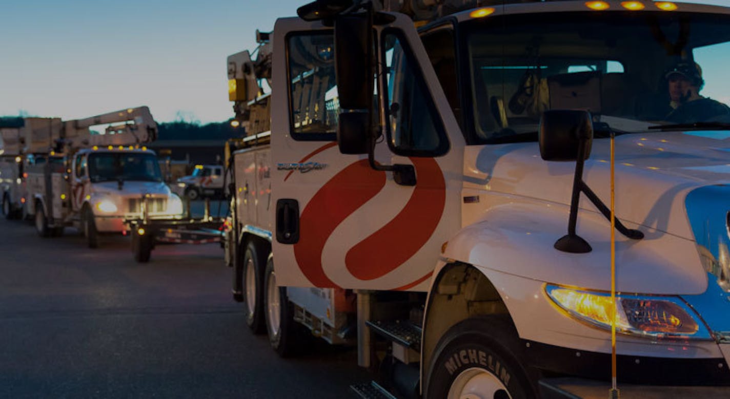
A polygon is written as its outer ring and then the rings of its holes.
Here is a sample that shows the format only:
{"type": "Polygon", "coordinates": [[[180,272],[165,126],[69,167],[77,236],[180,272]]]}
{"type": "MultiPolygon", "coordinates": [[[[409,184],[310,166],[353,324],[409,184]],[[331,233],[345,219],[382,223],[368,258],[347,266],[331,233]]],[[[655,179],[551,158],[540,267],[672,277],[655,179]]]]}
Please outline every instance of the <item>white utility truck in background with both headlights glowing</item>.
{"type": "Polygon", "coordinates": [[[139,217],[145,206],[154,217],[183,214],[155,152],[144,145],[157,134],[147,106],[59,122],[37,138],[59,160],[28,166],[28,213],[39,235],[74,226],[96,248],[100,233],[126,233],[124,219],[139,217]]]}

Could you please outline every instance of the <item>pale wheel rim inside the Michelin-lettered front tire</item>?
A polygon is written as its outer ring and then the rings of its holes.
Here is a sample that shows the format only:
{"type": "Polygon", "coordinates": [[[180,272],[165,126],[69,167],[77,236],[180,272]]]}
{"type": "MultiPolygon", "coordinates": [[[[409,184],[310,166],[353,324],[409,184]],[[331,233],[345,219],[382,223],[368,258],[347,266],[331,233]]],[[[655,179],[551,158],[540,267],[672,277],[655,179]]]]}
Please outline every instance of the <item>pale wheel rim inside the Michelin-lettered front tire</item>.
{"type": "Polygon", "coordinates": [[[483,368],[467,368],[451,384],[448,399],[511,399],[507,387],[483,368]]]}

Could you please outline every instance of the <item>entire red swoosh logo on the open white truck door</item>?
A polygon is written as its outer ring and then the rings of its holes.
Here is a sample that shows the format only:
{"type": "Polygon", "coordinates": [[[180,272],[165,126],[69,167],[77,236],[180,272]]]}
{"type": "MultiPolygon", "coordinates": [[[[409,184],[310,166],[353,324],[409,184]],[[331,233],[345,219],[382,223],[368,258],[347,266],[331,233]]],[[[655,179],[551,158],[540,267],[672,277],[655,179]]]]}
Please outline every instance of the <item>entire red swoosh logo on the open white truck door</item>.
{"type": "MultiPolygon", "coordinates": [[[[345,255],[347,270],[358,279],[377,279],[401,266],[426,244],[441,220],[446,203],[441,168],[432,158],[410,159],[418,183],[404,209],[345,255]],[[382,256],[383,252],[388,256],[382,256]]],[[[374,171],[367,160],[358,160],[323,185],[301,212],[294,256],[315,287],[338,287],[323,270],[324,246],[335,228],[383,187],[385,172],[374,171]]],[[[395,290],[415,287],[431,273],[395,290]]]]}

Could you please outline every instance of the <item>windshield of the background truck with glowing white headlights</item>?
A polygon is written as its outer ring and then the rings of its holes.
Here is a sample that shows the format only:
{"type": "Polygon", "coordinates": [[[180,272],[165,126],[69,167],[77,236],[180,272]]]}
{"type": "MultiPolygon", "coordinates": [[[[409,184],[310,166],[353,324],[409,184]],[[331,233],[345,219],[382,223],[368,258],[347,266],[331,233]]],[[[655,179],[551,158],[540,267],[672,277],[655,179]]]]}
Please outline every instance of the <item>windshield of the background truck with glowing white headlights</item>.
{"type": "Polygon", "coordinates": [[[132,152],[97,152],[88,157],[89,177],[92,182],[107,180],[161,182],[162,174],[157,157],[132,152]]]}

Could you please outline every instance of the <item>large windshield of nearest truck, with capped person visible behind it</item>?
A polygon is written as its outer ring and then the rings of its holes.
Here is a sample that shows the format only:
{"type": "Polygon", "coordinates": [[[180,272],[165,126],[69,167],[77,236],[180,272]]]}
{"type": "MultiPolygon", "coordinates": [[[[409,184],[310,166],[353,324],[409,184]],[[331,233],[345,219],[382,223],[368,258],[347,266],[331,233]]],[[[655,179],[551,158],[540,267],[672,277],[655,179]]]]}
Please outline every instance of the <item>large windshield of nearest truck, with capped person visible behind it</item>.
{"type": "Polygon", "coordinates": [[[482,144],[537,140],[548,109],[588,109],[622,131],[730,123],[730,15],[550,12],[464,28],[482,144]]]}

